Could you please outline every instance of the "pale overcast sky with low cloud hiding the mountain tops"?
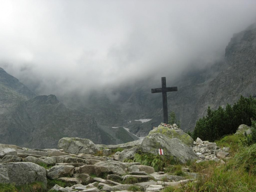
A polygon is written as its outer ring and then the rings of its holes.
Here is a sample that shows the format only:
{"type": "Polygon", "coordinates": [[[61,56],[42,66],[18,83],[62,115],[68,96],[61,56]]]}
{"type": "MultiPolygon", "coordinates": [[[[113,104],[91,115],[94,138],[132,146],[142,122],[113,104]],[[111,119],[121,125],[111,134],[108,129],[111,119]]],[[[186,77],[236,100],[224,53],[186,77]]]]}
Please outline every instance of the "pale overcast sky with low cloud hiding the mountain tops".
{"type": "Polygon", "coordinates": [[[256,0],[0,0],[0,64],[46,95],[161,81],[254,22],[256,0]]]}

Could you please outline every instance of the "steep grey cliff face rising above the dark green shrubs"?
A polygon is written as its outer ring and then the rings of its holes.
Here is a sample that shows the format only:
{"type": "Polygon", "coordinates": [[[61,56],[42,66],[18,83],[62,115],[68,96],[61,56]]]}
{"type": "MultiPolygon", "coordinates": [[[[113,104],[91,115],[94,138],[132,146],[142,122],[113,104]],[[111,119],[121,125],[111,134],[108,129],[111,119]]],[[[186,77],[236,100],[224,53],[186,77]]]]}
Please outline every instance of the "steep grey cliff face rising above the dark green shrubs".
{"type": "Polygon", "coordinates": [[[225,50],[225,64],[228,67],[220,71],[200,97],[190,128],[206,114],[208,106],[217,109],[234,104],[241,95],[256,97],[256,24],[234,34],[225,50]]]}

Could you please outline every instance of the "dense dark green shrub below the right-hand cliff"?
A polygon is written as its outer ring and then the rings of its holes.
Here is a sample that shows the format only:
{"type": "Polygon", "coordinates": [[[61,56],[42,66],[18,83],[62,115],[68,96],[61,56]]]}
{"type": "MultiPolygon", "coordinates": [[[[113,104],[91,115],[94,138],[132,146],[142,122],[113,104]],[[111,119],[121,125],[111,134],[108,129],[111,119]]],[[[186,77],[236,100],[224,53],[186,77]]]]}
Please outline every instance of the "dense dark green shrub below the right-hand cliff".
{"type": "Polygon", "coordinates": [[[227,104],[225,109],[207,109],[207,115],[196,122],[192,137],[213,142],[223,135],[233,134],[241,124],[251,126],[251,119],[256,119],[256,99],[240,97],[232,107],[227,104]]]}

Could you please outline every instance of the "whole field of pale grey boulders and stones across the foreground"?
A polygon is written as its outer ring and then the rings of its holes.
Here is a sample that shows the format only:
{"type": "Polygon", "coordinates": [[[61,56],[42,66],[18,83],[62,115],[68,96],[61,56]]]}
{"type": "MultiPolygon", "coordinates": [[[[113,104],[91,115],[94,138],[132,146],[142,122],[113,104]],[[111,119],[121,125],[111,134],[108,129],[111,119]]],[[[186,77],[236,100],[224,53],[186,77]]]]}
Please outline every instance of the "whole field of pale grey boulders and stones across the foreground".
{"type": "Polygon", "coordinates": [[[174,157],[182,164],[187,161],[222,161],[228,156],[228,149],[219,149],[216,143],[199,138],[189,147],[190,143],[181,140],[185,138],[187,141],[189,135],[175,138],[176,133],[171,134],[168,129],[171,128],[163,124],[143,140],[120,145],[95,145],[88,139],[69,137],[59,140],[60,149],[28,149],[0,144],[0,183],[23,185],[39,181],[47,184],[47,179],[50,179],[72,184],[65,188],[52,187],[52,190],[62,192],[131,191],[134,187],[143,191],[160,191],[166,186],[194,182],[197,174],[188,173],[185,167],[183,171],[190,175],[189,179],[156,172],[151,166],[132,162],[138,151],[157,155],[161,148],[166,158],[174,157]]]}

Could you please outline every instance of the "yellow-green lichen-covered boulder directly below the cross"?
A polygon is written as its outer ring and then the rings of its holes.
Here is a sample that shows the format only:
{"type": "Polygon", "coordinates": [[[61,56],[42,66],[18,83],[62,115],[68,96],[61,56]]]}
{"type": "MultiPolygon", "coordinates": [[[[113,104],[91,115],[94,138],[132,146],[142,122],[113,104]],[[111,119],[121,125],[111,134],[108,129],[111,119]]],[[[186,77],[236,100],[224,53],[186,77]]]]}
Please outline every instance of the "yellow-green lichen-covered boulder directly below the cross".
{"type": "Polygon", "coordinates": [[[161,133],[163,135],[166,135],[168,137],[172,138],[178,138],[183,143],[185,143],[189,147],[193,147],[194,140],[190,135],[187,133],[184,133],[182,130],[178,129],[172,129],[164,126],[159,126],[157,128],[154,128],[153,130],[149,131],[149,135],[153,133],[161,133]]]}

